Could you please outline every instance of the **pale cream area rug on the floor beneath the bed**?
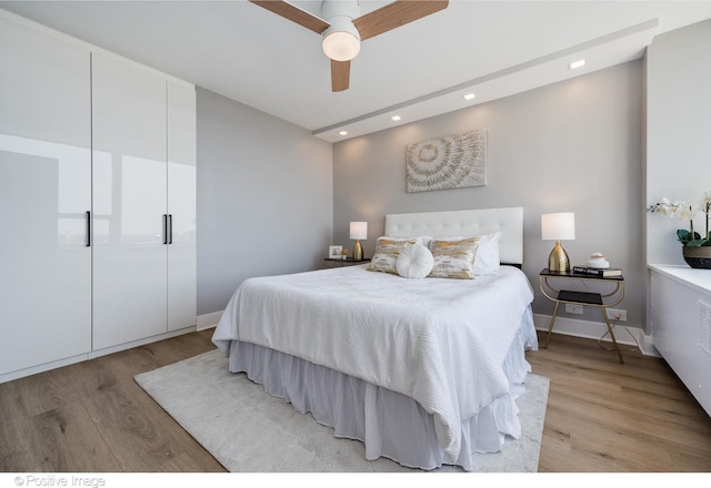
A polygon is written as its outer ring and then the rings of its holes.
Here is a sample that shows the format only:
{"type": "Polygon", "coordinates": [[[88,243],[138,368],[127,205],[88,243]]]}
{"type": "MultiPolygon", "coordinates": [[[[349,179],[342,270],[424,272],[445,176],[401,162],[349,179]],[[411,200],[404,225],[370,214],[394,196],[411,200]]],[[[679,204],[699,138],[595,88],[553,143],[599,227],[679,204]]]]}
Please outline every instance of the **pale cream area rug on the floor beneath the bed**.
{"type": "MultiPolygon", "coordinates": [[[[367,460],[362,443],[333,437],[310,414],[244,374],[229,373],[218,349],[142,373],[136,382],[231,472],[417,471],[385,458],[367,460]]],[[[479,471],[537,471],[549,385],[549,378],[529,375],[517,400],[521,438],[507,439],[501,453],[477,455],[479,471]]]]}

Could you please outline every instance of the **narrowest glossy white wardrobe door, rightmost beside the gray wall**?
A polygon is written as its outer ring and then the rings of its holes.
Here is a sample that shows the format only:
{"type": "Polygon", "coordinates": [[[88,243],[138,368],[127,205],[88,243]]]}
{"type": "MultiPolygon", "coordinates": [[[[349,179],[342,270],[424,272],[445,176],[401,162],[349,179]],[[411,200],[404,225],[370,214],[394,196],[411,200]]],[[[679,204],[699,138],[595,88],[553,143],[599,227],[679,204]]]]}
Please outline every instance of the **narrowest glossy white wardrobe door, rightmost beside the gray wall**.
{"type": "Polygon", "coordinates": [[[168,331],[197,323],[196,90],[168,82],[168,331]]]}

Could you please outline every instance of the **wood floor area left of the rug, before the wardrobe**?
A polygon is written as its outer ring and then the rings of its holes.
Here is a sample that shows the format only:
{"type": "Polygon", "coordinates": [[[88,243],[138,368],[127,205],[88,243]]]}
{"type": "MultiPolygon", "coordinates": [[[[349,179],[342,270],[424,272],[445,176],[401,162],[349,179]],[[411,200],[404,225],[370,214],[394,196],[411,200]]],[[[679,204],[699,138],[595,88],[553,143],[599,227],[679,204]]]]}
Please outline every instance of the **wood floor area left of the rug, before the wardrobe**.
{"type": "Polygon", "coordinates": [[[0,385],[0,471],[223,471],[133,376],[210,350],[187,334],[0,385]]]}

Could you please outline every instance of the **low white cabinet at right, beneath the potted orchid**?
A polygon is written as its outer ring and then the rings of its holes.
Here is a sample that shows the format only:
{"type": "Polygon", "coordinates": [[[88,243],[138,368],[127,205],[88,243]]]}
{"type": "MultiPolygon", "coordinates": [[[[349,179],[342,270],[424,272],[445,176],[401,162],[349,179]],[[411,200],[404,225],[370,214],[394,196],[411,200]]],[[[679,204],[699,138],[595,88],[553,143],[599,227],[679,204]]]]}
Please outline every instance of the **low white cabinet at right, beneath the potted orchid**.
{"type": "Polygon", "coordinates": [[[711,275],[650,265],[654,347],[711,415],[711,275]]]}

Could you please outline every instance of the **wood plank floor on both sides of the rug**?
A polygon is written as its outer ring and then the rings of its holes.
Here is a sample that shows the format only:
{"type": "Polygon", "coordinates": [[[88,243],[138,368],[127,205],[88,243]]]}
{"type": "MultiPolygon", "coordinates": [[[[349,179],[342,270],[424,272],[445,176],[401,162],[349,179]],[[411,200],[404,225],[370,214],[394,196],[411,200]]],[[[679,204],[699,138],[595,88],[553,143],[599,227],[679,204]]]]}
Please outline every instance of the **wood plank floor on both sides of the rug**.
{"type": "MultiPolygon", "coordinates": [[[[0,471],[223,471],[133,380],[211,349],[212,331],[0,385],[0,471]]],[[[711,418],[664,362],[554,335],[539,471],[711,471],[711,418]]]]}

